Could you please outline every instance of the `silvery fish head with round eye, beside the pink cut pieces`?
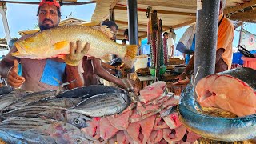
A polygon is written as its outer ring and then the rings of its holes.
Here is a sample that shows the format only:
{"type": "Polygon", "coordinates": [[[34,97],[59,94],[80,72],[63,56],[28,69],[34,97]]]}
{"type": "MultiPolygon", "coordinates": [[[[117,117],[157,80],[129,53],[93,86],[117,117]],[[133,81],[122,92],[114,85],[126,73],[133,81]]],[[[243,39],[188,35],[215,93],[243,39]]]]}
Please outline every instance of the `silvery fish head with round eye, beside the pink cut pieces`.
{"type": "Polygon", "coordinates": [[[78,127],[79,129],[89,126],[88,121],[91,121],[91,118],[78,113],[68,113],[67,122],[78,127]]]}

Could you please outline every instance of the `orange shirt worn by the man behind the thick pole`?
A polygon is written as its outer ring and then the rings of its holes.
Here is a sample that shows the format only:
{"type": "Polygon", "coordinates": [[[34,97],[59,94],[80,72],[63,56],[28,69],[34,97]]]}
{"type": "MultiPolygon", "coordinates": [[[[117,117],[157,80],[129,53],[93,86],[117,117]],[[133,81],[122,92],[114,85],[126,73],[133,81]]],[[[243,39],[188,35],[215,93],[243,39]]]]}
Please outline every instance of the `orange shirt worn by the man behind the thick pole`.
{"type": "MultiPolygon", "coordinates": [[[[218,21],[223,17],[223,13],[218,16],[218,21]]],[[[223,48],[222,59],[226,62],[230,70],[232,64],[232,42],[234,38],[234,26],[228,18],[224,16],[221,24],[218,26],[217,50],[223,48]]]]}

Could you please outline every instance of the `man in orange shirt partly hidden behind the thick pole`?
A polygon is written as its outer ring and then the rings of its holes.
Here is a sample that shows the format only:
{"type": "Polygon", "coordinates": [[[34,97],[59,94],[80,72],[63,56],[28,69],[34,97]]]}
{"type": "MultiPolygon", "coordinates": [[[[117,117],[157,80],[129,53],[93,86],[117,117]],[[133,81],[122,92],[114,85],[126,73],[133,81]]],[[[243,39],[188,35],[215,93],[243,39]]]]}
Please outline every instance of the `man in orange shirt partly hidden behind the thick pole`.
{"type": "MultiPolygon", "coordinates": [[[[218,39],[216,48],[215,73],[230,70],[232,63],[232,42],[234,39],[234,26],[223,14],[226,0],[220,1],[218,16],[218,39]]],[[[190,59],[186,70],[179,75],[179,80],[185,79],[194,69],[194,55],[190,59]]]]}

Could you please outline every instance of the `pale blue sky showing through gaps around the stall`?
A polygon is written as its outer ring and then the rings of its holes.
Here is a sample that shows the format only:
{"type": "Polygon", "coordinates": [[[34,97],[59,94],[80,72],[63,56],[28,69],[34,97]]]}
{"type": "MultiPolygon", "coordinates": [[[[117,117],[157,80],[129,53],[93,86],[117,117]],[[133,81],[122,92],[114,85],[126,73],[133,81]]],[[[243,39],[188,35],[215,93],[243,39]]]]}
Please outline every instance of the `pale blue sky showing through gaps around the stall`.
{"type": "MultiPolygon", "coordinates": [[[[16,0],[18,1],[18,0],[16,0]]],[[[22,1],[22,0],[19,0],[22,1]]],[[[30,2],[39,2],[39,0],[26,0],[30,2]]],[[[78,2],[86,2],[85,0],[78,0],[78,2]]],[[[66,19],[66,16],[72,13],[74,18],[90,21],[92,14],[94,13],[95,4],[87,4],[81,6],[62,6],[62,19],[66,19]]],[[[37,13],[38,5],[25,5],[25,4],[10,4],[7,3],[7,20],[10,26],[10,35],[12,38],[19,38],[18,31],[31,30],[37,26],[37,13]]],[[[177,34],[176,43],[182,37],[187,26],[175,30],[177,34]]],[[[256,34],[256,24],[246,24],[244,28],[253,34],[256,34]]],[[[233,46],[238,46],[240,27],[235,30],[233,46]]],[[[0,19],[0,38],[5,38],[4,27],[2,24],[2,18],[0,19]]]]}

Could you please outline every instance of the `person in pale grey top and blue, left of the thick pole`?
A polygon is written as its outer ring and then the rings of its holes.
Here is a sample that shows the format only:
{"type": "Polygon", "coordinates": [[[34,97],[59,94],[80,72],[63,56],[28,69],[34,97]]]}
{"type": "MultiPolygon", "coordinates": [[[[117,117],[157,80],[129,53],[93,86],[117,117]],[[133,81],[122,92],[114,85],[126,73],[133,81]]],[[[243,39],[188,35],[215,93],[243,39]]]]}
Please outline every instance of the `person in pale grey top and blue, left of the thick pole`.
{"type": "Polygon", "coordinates": [[[190,62],[190,55],[194,54],[195,49],[195,25],[188,27],[182,38],[179,40],[176,50],[182,52],[185,56],[185,64],[190,62]]]}

